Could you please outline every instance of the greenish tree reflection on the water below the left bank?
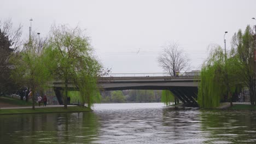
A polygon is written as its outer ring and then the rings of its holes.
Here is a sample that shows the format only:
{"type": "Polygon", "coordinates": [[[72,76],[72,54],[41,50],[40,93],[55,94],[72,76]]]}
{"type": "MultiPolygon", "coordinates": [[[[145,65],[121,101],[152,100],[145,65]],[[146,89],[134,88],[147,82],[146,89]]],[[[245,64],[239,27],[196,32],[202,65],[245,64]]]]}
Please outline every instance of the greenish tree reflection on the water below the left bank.
{"type": "Polygon", "coordinates": [[[97,133],[92,112],[0,116],[1,143],[90,143],[97,133]]]}

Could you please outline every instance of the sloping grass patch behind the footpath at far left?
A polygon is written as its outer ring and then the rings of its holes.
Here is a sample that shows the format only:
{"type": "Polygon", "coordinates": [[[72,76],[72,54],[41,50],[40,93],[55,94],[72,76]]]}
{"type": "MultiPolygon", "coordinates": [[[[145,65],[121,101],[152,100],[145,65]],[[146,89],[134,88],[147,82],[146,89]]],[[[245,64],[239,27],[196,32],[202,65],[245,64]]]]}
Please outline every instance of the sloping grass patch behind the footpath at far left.
{"type": "Polygon", "coordinates": [[[20,100],[20,99],[15,99],[15,98],[11,98],[11,97],[0,97],[0,101],[3,103],[8,103],[11,105],[18,105],[18,106],[31,106],[32,105],[31,101],[26,102],[26,100],[20,100]]]}

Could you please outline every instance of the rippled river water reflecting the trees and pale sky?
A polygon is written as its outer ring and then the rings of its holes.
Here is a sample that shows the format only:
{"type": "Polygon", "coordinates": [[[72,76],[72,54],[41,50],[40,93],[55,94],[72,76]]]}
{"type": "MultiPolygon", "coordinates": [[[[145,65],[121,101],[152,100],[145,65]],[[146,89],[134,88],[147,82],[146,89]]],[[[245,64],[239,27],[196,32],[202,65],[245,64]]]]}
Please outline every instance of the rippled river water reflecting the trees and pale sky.
{"type": "Polygon", "coordinates": [[[256,112],[101,104],[94,112],[0,116],[0,143],[256,143],[256,112]]]}

